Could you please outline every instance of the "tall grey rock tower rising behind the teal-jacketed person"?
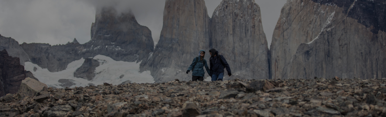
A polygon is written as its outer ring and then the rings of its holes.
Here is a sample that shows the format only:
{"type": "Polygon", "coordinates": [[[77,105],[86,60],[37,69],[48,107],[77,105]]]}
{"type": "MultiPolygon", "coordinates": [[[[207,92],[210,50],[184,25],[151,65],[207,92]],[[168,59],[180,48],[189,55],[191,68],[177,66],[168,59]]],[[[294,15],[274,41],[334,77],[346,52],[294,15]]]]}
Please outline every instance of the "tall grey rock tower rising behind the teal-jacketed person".
{"type": "MultiPolygon", "coordinates": [[[[141,64],[141,71],[150,70],[156,82],[189,81],[191,74],[185,71],[193,58],[200,49],[210,49],[210,17],[204,0],[166,0],[163,24],[155,51],[146,65],[141,64]]],[[[205,58],[209,56],[207,51],[205,58]]]]}

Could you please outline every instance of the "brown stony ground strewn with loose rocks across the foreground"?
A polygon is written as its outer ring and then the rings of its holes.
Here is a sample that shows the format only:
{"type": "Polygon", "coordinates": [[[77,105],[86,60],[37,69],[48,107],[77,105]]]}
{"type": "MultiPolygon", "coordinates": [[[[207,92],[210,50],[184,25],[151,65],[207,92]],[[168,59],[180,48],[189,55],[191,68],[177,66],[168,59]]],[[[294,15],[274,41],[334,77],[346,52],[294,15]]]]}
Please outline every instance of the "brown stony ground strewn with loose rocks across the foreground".
{"type": "MultiPolygon", "coordinates": [[[[24,81],[24,83],[27,81],[24,81]]],[[[383,117],[386,78],[169,81],[1,97],[3,117],[383,117]]],[[[33,86],[29,89],[35,89],[33,86]]]]}

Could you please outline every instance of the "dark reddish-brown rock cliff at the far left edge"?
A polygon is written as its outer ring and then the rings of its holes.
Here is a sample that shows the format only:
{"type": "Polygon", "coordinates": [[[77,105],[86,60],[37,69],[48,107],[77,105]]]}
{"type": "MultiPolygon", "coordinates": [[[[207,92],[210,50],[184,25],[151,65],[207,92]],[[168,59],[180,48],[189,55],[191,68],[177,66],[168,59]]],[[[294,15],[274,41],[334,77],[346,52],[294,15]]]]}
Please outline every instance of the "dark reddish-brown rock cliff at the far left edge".
{"type": "Polygon", "coordinates": [[[24,66],[20,65],[19,58],[9,56],[5,49],[0,51],[0,97],[7,93],[17,93],[21,81],[28,76],[34,78],[31,72],[25,71],[24,66]]]}

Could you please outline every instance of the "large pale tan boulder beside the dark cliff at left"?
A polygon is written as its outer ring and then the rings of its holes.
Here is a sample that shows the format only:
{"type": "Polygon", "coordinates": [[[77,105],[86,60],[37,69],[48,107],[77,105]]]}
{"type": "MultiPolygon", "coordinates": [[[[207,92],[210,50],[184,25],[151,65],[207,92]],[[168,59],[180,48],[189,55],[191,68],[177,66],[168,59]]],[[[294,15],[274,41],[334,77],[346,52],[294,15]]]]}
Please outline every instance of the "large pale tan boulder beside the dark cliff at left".
{"type": "Polygon", "coordinates": [[[32,78],[25,78],[22,80],[18,93],[21,97],[32,96],[37,92],[40,92],[44,86],[48,87],[46,84],[40,81],[34,80],[32,78]]]}

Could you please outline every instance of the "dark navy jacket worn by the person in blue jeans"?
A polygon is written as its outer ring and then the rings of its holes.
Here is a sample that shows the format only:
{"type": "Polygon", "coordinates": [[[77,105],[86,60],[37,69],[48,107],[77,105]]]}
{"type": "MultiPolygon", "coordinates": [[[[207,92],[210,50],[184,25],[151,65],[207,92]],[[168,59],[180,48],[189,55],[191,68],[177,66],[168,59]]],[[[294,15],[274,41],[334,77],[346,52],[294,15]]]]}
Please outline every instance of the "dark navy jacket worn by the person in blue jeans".
{"type": "Polygon", "coordinates": [[[227,60],[225,60],[224,56],[219,55],[218,51],[216,51],[216,56],[210,57],[209,64],[210,64],[210,73],[212,73],[212,75],[219,75],[220,73],[224,73],[224,66],[227,69],[227,72],[231,73],[227,60]],[[221,58],[222,63],[219,57],[221,58]]]}

